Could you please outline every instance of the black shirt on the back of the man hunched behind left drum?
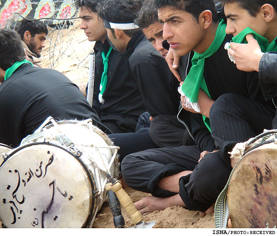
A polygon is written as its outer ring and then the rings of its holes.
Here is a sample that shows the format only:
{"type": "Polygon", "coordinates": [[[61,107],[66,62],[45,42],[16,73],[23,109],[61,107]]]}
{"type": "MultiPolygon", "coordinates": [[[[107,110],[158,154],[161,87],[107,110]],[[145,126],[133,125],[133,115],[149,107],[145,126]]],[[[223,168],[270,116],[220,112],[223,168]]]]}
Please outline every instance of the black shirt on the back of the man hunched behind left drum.
{"type": "Polygon", "coordinates": [[[62,73],[21,65],[0,86],[0,143],[20,145],[48,116],[100,123],[78,86],[62,73]]]}

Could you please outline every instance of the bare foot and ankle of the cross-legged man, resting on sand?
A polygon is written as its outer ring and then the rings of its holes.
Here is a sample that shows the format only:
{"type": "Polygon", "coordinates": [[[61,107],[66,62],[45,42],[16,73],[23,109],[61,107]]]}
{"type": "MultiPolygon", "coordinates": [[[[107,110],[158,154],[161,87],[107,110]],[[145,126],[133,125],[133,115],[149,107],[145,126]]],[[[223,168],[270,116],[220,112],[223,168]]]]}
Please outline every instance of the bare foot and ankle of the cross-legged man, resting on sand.
{"type": "Polygon", "coordinates": [[[147,196],[135,202],[134,205],[142,215],[165,210],[167,207],[185,206],[179,194],[166,198],[147,196]]]}

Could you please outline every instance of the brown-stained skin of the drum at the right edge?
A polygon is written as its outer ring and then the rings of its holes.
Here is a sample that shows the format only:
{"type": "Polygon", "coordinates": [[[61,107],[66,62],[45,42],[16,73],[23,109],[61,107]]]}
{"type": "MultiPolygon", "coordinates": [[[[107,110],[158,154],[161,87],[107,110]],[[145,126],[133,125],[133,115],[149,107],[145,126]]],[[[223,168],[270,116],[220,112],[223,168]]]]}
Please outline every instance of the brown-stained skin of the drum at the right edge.
{"type": "Polygon", "coordinates": [[[265,144],[243,156],[230,180],[228,207],[234,228],[277,225],[276,144],[265,144]]]}

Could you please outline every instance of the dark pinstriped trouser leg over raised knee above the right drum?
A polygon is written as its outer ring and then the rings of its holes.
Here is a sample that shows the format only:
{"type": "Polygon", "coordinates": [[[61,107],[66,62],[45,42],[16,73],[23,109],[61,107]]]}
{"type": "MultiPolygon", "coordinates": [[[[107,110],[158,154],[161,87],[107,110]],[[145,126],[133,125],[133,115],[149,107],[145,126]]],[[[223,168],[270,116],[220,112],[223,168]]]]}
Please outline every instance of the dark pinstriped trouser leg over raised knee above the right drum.
{"type": "Polygon", "coordinates": [[[226,141],[245,142],[272,129],[275,109],[242,95],[221,95],[210,110],[211,132],[215,146],[226,141]]]}

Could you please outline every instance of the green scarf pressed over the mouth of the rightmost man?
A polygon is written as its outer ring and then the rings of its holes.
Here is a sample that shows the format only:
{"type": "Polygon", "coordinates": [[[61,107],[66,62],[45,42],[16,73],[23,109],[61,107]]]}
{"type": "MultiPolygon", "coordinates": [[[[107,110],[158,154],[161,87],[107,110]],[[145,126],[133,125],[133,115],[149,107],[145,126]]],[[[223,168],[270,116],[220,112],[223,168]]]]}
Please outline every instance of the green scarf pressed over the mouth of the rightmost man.
{"type": "Polygon", "coordinates": [[[259,43],[262,52],[276,52],[277,51],[277,37],[269,43],[268,40],[261,35],[257,34],[253,29],[247,27],[242,30],[239,34],[232,38],[234,43],[247,43],[246,35],[252,34],[254,39],[259,43]]]}

